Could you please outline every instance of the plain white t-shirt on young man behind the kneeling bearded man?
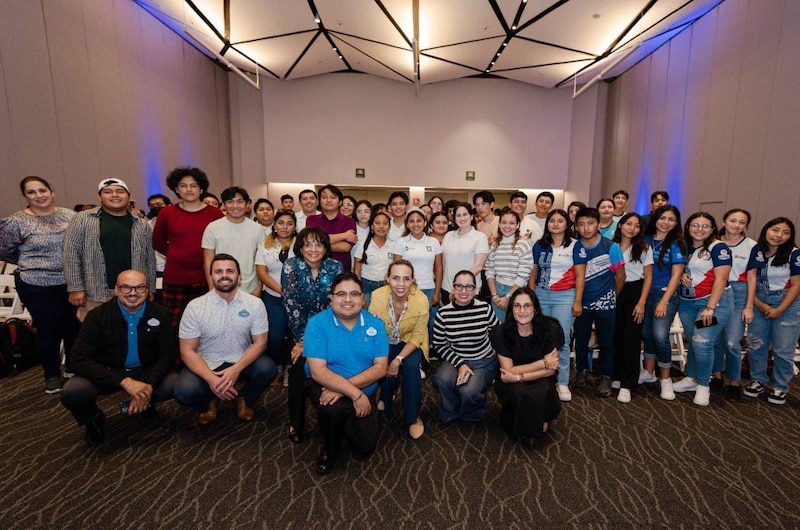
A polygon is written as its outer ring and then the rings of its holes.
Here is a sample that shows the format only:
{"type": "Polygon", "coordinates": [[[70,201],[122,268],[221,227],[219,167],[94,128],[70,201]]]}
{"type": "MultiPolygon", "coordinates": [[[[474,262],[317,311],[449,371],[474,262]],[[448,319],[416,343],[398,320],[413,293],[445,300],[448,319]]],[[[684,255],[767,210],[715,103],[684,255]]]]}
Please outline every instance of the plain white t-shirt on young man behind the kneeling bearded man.
{"type": "Polygon", "coordinates": [[[239,287],[252,293],[258,284],[256,276],[256,251],[263,244],[266,234],[264,227],[248,219],[232,223],[227,217],[208,224],[203,232],[202,246],[215,254],[230,254],[239,262],[239,287]]]}

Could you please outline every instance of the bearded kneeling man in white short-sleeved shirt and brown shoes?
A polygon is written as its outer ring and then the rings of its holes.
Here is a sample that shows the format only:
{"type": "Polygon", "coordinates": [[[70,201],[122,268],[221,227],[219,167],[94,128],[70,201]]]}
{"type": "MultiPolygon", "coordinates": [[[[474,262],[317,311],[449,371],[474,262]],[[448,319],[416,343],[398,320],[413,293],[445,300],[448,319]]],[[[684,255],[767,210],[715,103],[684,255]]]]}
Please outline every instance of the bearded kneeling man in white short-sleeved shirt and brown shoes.
{"type": "Polygon", "coordinates": [[[269,322],[260,298],[238,288],[239,262],[228,254],[211,261],[213,289],[186,306],[181,318],[181,358],[186,365],[175,385],[175,399],[208,425],[217,403],[236,400],[236,414],[252,421],[253,406],[278,373],[264,354],[269,322]],[[247,380],[236,389],[239,377],[247,380]]]}

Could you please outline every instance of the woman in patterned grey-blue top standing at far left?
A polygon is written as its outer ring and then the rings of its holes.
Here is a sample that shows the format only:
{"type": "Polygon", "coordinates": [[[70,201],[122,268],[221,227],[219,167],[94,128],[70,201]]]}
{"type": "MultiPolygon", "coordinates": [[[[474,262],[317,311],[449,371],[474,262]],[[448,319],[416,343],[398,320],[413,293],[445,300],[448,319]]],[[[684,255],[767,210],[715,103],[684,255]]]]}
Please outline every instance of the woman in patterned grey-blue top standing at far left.
{"type": "Polygon", "coordinates": [[[18,266],[14,283],[38,330],[44,391],[55,394],[61,392],[61,341],[69,372],[69,351],[80,329],[61,263],[64,233],[75,212],[56,206],[53,188],[41,177],[25,177],[19,190],[28,206],[0,220],[0,259],[18,266]]]}

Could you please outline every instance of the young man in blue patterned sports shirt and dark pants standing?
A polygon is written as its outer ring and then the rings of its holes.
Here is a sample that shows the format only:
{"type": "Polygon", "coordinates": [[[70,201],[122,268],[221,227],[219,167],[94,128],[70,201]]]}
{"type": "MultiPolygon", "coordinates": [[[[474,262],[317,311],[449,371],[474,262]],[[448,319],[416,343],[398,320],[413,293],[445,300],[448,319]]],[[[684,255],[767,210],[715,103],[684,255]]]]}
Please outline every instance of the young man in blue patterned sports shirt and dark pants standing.
{"type": "Polygon", "coordinates": [[[589,337],[592,324],[600,345],[599,397],[611,396],[614,375],[614,315],[617,296],[625,285],[625,258],[619,245],[600,236],[600,213],[595,208],[583,208],[575,214],[575,226],[580,240],[575,245],[575,301],[572,314],[576,317],[575,386],[586,386],[591,353],[589,337]]]}

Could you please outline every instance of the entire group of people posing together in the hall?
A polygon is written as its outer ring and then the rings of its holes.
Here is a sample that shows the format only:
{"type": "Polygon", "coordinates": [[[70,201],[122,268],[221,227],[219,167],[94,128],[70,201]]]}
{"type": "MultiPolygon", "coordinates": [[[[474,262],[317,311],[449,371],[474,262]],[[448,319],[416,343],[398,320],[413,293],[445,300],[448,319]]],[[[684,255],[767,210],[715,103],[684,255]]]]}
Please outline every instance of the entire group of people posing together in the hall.
{"type": "Polygon", "coordinates": [[[143,217],[119,178],[102,180],[100,205],[76,213],[55,205],[45,179],[26,177],[27,208],[0,221],[0,258],[18,265],[39,330],[45,392],[61,392],[88,443],[104,437],[99,394],[125,391],[127,415],[156,414],[155,402],[174,397],[203,426],[231,401],[252,421],[283,370],[287,435],[304,441],[310,400],[324,474],[344,438],[374,450],[373,405],[391,418],[398,389],[404,433],[423,436],[421,381],[433,357],[441,422],[481,421],[494,385],[502,426],[521,439],[540,438],[591,371],[600,397],[617,386],[626,403],[637,385],[658,382],[663,399],[694,392],[702,406],[712,390],[764,393],[772,351],[767,399],[786,400],[800,334],[800,250],[787,218],[756,241],[747,211],[731,209],[721,226],[705,212],[682,224],[664,191],[645,216],[625,211],[623,190],[566,210],[542,192],[526,215],[521,191],[500,209],[487,190],[472,204],[434,196],[409,208],[402,191],[371,204],[329,184],[301,192],[295,212],[291,196],[276,209],[240,187],[214,205],[198,168],[176,168],[166,184],[179,201],[152,196],[143,217]],[[673,382],[676,314],[688,364],[673,382]]]}

